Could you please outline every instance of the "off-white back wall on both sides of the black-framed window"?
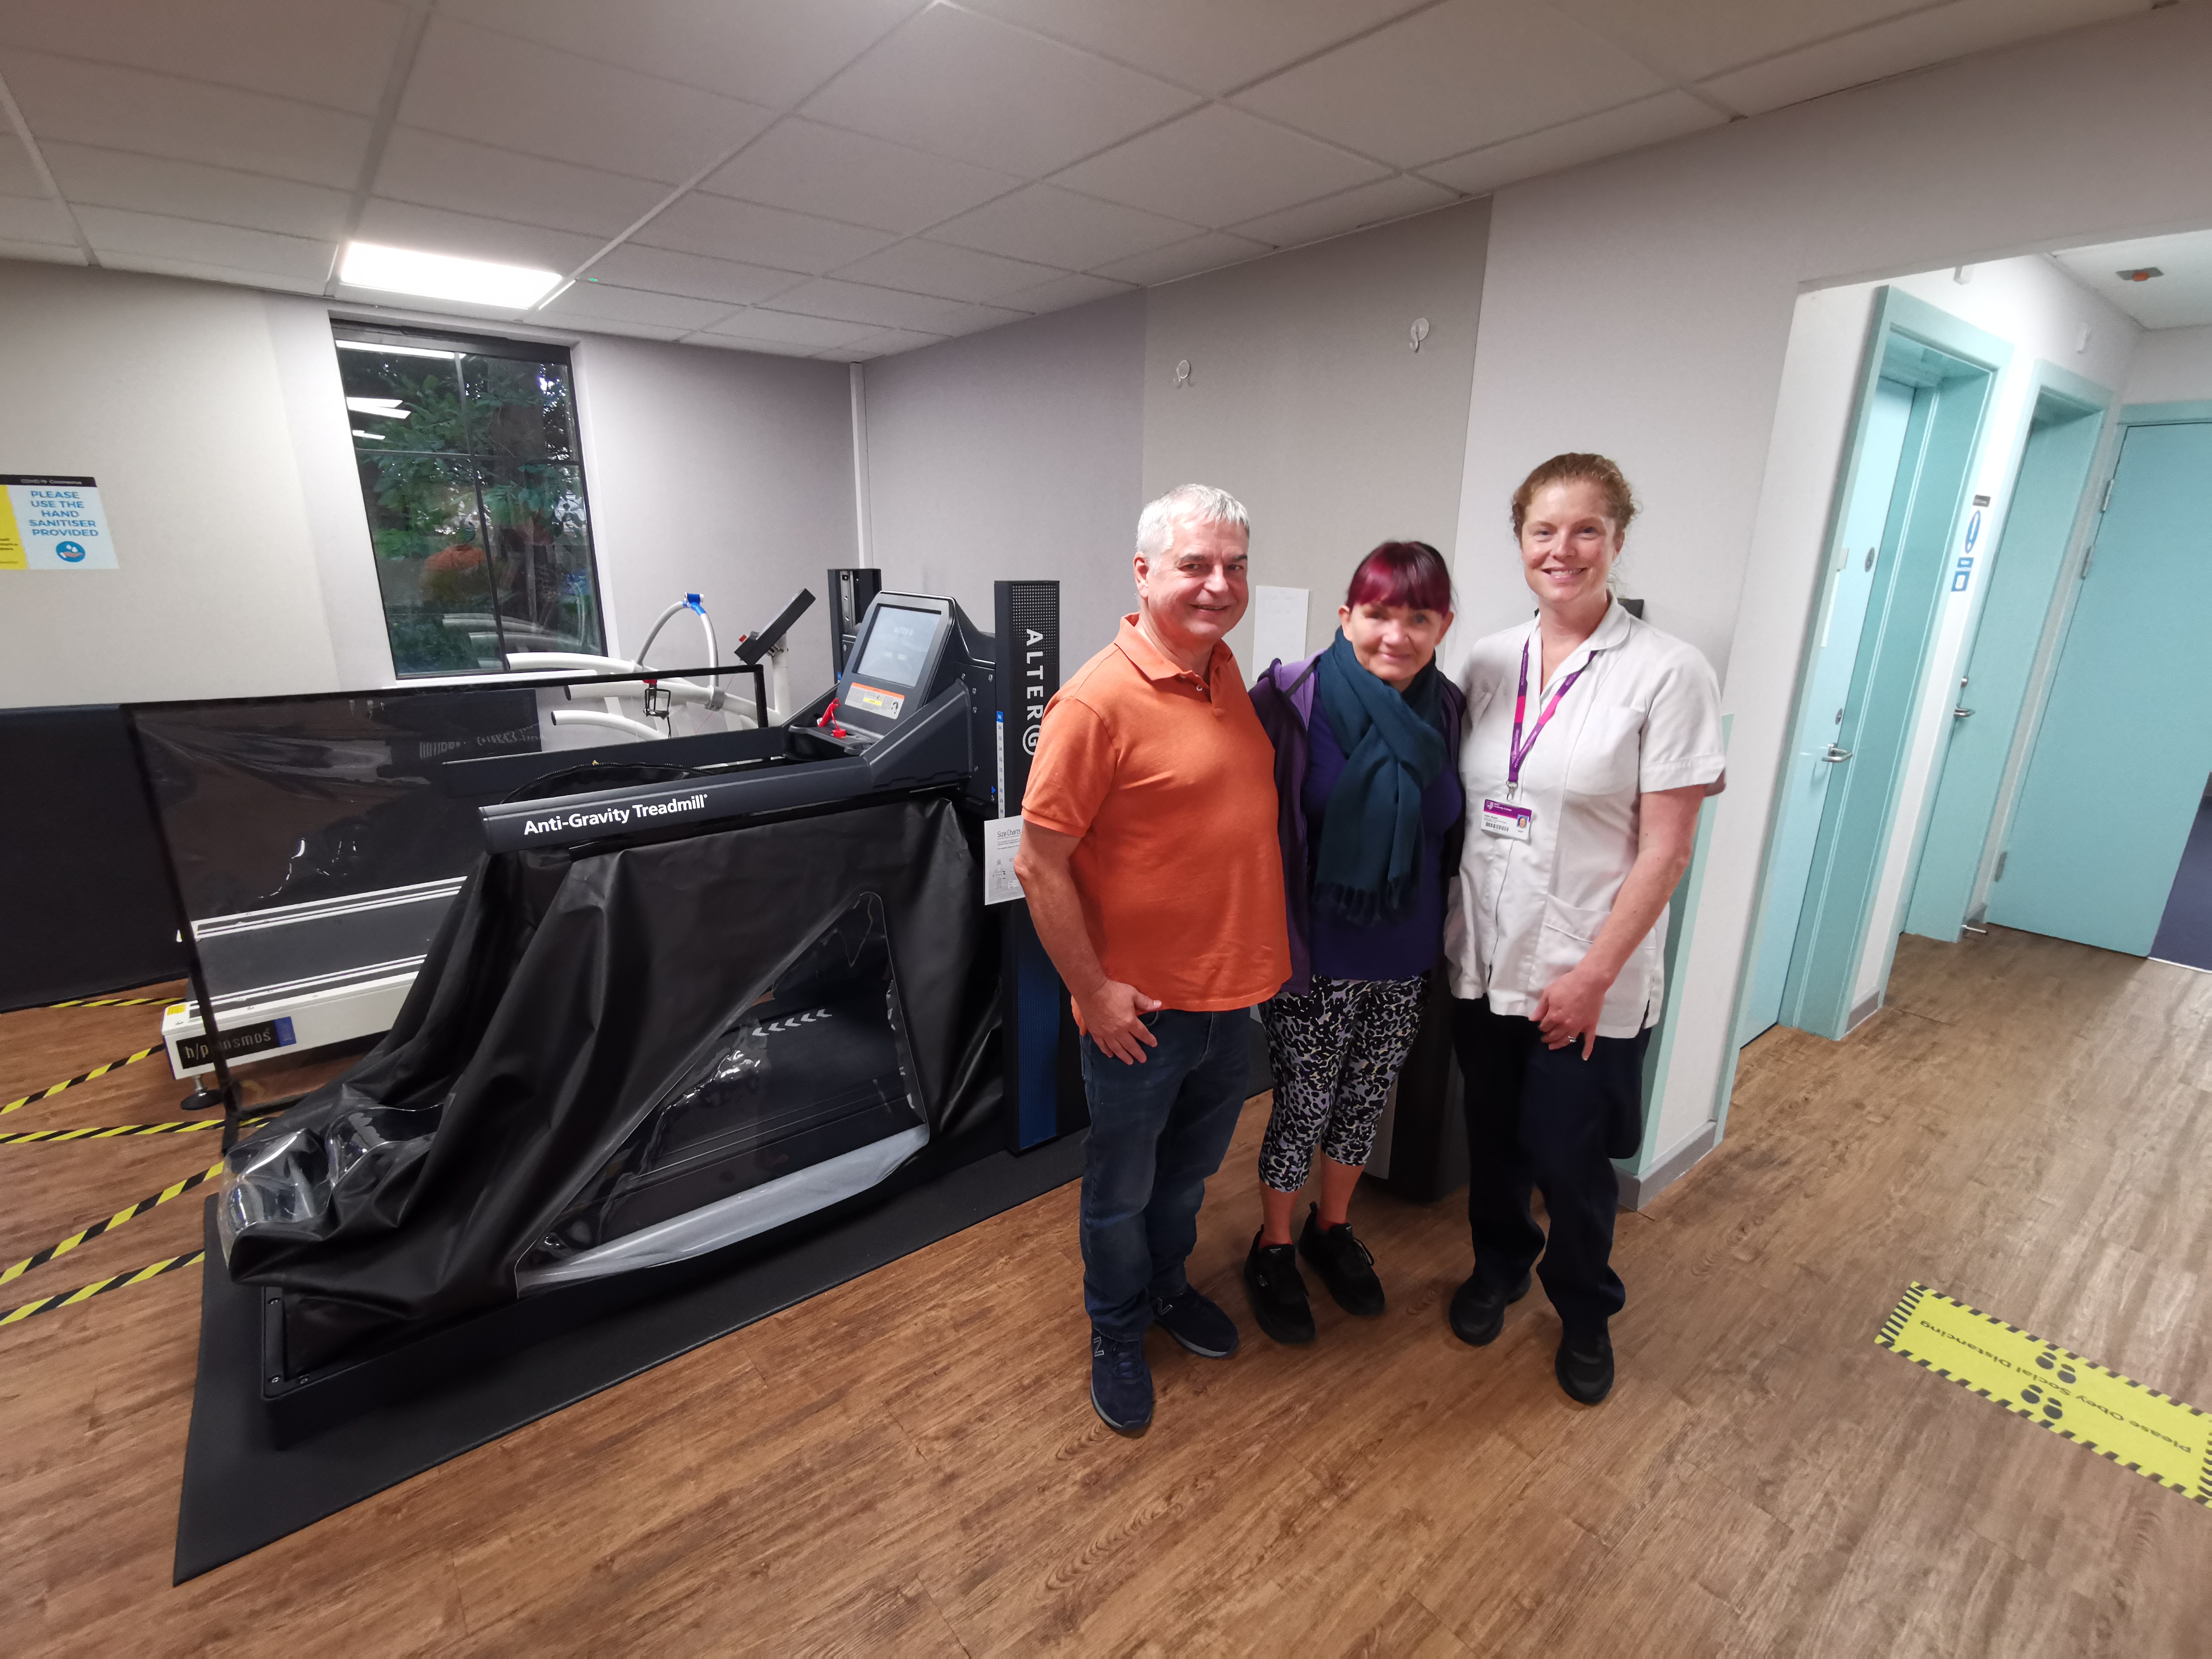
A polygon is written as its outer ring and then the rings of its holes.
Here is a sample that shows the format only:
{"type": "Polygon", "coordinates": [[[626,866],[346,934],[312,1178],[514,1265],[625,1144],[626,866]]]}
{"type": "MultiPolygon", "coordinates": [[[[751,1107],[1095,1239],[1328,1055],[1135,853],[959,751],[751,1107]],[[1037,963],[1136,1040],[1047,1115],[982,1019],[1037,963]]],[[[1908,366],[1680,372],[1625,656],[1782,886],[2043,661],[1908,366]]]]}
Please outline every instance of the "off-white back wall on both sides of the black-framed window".
{"type": "MultiPolygon", "coordinates": [[[[611,644],[684,593],[734,639],[852,560],[843,365],[562,338],[611,644]]],[[[0,261],[0,473],[97,478],[119,564],[0,573],[0,708],[394,684],[325,303],[0,261]]],[[[827,684],[821,611],[790,672],[827,684]]]]}

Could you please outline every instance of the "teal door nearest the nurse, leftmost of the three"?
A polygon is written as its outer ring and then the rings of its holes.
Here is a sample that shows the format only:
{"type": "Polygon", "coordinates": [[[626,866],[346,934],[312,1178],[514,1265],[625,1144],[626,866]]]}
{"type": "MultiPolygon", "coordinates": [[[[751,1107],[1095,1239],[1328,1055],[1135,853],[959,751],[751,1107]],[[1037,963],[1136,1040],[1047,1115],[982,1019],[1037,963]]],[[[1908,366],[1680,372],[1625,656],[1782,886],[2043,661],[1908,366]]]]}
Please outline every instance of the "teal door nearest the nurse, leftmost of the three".
{"type": "Polygon", "coordinates": [[[1759,933],[1759,953],[1752,960],[1743,1020],[1736,1029],[1739,1044],[1781,1020],[1798,911],[1805,907],[1805,878],[1812,874],[1812,854],[1820,838],[1827,785],[1836,776],[1836,765],[1825,754],[1838,737],[1845,703],[1851,697],[1858,637],[1867,626],[1867,595],[1874,593],[1874,566],[1889,526],[1911,418],[1913,389],[1902,380],[1876,380],[1874,405],[1867,409],[1867,429],[1860,438],[1856,484],[1843,509],[1836,549],[1829,555],[1829,591],[1807,668],[1805,703],[1798,710],[1798,728],[1790,737],[1790,754],[1783,761],[1767,916],[1759,933]]]}

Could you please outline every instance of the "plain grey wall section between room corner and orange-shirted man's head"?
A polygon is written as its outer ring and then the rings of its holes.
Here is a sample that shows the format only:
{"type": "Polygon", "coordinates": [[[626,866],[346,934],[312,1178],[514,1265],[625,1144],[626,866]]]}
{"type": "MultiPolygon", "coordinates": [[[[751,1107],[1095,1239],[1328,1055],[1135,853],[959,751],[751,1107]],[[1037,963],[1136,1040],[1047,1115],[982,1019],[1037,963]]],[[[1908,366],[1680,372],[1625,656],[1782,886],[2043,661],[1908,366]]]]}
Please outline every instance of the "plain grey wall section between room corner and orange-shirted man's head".
{"type": "Polygon", "coordinates": [[[989,628],[993,582],[1057,577],[1064,666],[1113,639],[1144,504],[1141,374],[1144,294],[865,365],[885,584],[989,628]]]}

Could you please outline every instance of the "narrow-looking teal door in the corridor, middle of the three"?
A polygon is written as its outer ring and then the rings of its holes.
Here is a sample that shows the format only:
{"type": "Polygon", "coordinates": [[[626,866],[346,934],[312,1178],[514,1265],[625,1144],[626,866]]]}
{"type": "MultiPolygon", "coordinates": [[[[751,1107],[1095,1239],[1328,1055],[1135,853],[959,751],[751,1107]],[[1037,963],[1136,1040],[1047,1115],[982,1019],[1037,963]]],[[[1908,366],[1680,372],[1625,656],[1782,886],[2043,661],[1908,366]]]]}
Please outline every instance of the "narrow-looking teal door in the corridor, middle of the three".
{"type": "Polygon", "coordinates": [[[1907,933],[1955,942],[1966,922],[2051,595],[2097,458],[2099,414],[2046,403],[2053,405],[2066,414],[2044,418],[2039,411],[2028,427],[2004,540],[1984,560],[1989,597],[1973,635],[1966,684],[1953,703],[1966,712],[1953,714],[1944,737],[1942,779],[1905,911],[1907,933]]]}

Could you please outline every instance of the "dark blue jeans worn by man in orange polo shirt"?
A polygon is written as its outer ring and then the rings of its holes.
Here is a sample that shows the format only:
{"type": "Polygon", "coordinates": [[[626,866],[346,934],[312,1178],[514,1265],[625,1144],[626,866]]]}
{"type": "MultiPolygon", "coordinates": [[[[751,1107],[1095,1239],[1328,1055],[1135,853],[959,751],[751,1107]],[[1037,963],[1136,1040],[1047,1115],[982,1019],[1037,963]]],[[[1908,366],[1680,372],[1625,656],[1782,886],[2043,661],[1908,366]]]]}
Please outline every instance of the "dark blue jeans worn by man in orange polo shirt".
{"type": "Polygon", "coordinates": [[[1237,1135],[1252,1066],[1252,1011],[1144,1015],[1157,1048],[1115,1060],[1091,1037],[1084,1093],[1084,1307],[1110,1338],[1144,1336],[1152,1298],[1188,1290],[1183,1261],[1199,1239],[1206,1177],[1237,1135]]]}

